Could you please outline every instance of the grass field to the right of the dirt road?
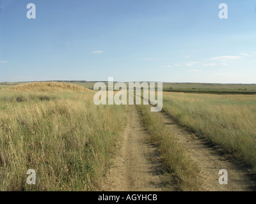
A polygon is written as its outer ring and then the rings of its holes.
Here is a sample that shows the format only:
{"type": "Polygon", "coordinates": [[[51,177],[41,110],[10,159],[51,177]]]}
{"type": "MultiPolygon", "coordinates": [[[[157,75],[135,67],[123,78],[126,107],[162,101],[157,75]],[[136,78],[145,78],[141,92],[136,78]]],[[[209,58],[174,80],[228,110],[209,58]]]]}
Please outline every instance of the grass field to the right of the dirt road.
{"type": "Polygon", "coordinates": [[[256,171],[256,96],[167,93],[163,110],[256,171]]]}

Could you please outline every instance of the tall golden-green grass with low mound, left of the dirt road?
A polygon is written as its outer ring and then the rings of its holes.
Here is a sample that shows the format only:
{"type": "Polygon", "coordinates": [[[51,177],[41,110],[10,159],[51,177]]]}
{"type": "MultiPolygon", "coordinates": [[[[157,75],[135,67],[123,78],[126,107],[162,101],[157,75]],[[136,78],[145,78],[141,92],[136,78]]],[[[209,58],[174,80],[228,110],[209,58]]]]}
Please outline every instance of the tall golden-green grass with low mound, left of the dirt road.
{"type": "Polygon", "coordinates": [[[99,189],[126,107],[96,106],[93,94],[52,82],[0,90],[0,191],[99,189]]]}

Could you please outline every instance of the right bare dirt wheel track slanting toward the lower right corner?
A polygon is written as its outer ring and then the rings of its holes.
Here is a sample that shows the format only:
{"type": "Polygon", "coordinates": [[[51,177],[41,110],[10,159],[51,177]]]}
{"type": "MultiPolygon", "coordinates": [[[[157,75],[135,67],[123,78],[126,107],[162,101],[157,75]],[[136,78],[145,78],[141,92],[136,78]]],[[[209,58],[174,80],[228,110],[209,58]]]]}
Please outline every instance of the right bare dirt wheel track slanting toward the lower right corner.
{"type": "Polygon", "coordinates": [[[157,112],[164,124],[184,145],[189,156],[198,163],[202,170],[204,191],[255,191],[255,174],[246,164],[237,163],[225,156],[221,149],[211,147],[204,138],[198,138],[164,112],[157,112]],[[220,185],[219,171],[228,171],[228,184],[220,185]]]}

